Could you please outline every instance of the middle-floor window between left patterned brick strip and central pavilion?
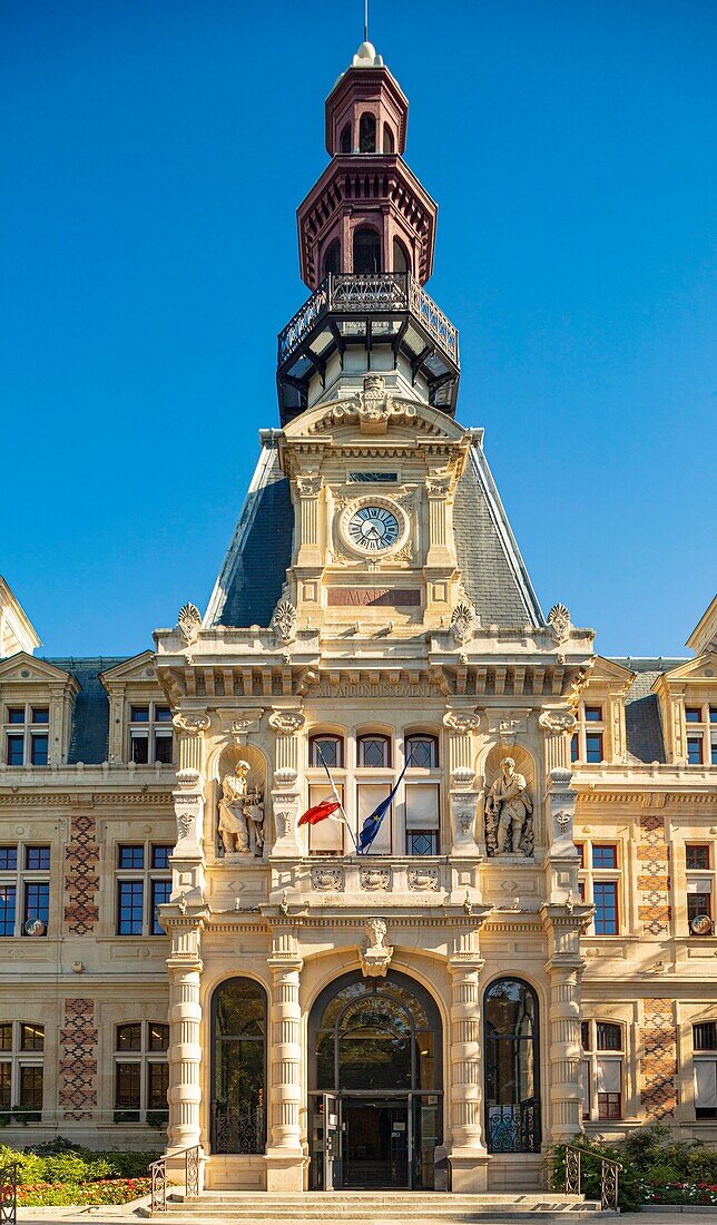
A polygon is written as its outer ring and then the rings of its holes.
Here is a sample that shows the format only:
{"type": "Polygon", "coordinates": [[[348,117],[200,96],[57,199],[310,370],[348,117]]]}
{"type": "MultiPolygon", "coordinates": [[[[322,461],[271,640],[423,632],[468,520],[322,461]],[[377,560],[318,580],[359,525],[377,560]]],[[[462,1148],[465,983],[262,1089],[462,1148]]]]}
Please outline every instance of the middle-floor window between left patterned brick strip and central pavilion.
{"type": "Polygon", "coordinates": [[[118,846],[118,936],[163,936],[158,908],[172,895],[172,846],[126,843],[118,846]]]}

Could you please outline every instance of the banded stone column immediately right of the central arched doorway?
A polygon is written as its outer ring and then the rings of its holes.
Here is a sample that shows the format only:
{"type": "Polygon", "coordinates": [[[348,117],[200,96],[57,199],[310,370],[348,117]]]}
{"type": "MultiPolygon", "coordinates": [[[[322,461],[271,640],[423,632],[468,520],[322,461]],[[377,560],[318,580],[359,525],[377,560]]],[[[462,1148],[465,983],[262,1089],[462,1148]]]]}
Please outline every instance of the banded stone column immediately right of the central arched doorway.
{"type": "Polygon", "coordinates": [[[451,973],[450,1093],[451,1186],[453,1191],[485,1191],[488,1153],[483,1143],[482,1051],[477,935],[460,937],[449,960],[451,973]]]}

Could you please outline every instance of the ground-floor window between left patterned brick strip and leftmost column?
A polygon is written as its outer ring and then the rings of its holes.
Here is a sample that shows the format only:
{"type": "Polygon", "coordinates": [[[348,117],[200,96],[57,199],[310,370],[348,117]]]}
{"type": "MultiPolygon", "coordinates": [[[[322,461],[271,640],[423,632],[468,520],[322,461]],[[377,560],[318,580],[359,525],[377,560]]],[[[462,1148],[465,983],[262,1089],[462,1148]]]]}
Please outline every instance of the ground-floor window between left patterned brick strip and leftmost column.
{"type": "Polygon", "coordinates": [[[115,1027],[114,1121],[141,1123],[167,1115],[169,1025],[157,1020],[115,1027]]]}

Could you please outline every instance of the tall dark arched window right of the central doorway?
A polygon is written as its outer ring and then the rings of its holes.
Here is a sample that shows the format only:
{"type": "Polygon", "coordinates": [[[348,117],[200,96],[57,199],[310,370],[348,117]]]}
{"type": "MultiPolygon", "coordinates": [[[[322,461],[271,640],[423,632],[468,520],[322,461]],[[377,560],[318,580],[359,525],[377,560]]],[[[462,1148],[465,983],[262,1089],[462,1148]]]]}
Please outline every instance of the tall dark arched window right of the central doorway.
{"type": "Polygon", "coordinates": [[[538,1000],[522,979],[498,979],[487,992],[485,1131],[489,1153],[541,1148],[538,1000]]]}

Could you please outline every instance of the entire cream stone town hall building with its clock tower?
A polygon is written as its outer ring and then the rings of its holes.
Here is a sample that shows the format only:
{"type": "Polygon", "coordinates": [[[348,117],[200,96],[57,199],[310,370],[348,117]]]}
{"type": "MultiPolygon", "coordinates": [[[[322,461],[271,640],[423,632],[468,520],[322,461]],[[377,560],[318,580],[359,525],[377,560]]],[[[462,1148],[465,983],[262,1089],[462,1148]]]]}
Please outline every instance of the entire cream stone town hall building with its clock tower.
{"type": "Polygon", "coordinates": [[[45,660],[0,587],[0,1058],[28,1114],[9,1142],[150,1149],[167,1127],[213,1188],[392,1164],[412,1188],[503,1191],[541,1186],[582,1128],[717,1139],[695,1096],[717,603],[683,660],[604,659],[541,610],[483,431],[455,419],[406,110],[371,48],[328,98],[300,213],[314,293],[206,612],[132,659],[45,660]],[[357,157],[375,173],[337,212],[357,157]],[[48,728],[47,766],[12,760],[48,728]],[[325,800],[341,820],[302,822],[325,800]],[[366,1027],[373,1054],[347,1054],[366,1027]]]}

